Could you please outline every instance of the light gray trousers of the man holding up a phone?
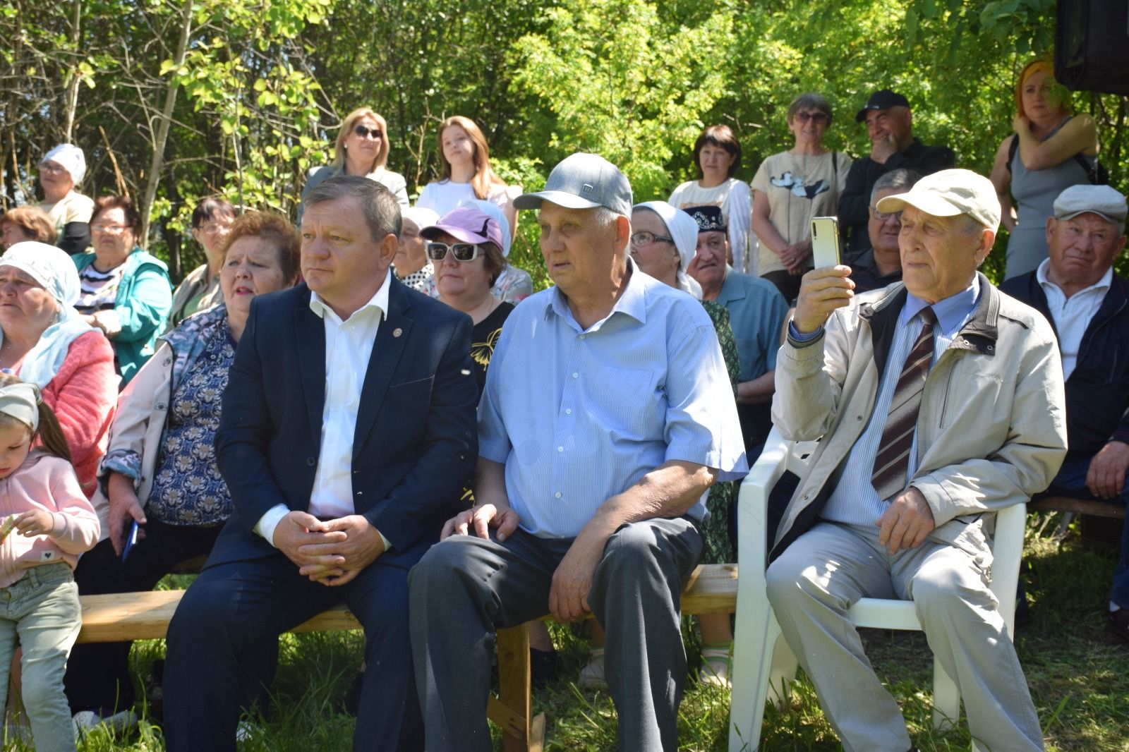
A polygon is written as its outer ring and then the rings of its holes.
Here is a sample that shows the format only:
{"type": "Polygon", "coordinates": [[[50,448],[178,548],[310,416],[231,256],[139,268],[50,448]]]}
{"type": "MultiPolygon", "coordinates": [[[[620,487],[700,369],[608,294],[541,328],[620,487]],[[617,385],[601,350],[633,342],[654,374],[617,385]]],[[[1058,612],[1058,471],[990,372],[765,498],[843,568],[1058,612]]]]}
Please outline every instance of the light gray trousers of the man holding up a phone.
{"type": "Polygon", "coordinates": [[[960,549],[926,541],[890,556],[878,528],[819,523],[765,572],[789,647],[848,751],[905,752],[894,698],[875,676],[847,618],[863,597],[912,598],[934,655],[953,677],[984,749],[1042,750],[1039,717],[986,574],[960,549]]]}

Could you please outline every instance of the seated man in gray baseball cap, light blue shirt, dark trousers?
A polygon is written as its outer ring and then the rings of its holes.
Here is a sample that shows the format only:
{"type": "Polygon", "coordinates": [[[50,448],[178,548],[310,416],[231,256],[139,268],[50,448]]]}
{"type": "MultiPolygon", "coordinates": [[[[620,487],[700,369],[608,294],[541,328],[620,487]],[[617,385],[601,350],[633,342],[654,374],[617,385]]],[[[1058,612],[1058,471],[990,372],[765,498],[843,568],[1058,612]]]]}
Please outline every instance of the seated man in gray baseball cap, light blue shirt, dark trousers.
{"type": "Polygon", "coordinates": [[[683,580],[701,557],[704,491],[747,464],[704,309],[628,256],[631,186],[575,154],[537,211],[555,287],[506,321],[479,409],[475,506],[410,576],[429,751],[492,749],[493,632],[594,614],[621,750],[677,749],[686,676],[683,580]]]}

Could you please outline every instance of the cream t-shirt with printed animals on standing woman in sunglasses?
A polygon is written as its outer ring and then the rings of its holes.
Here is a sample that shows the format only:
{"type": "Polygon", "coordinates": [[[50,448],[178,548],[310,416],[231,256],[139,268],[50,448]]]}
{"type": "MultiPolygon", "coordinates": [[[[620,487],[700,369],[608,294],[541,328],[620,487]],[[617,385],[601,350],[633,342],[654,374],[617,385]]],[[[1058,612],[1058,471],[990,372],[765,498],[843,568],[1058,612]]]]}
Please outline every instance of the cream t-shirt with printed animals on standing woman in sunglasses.
{"type": "MultiPolygon", "coordinates": [[[[816,155],[774,154],[761,163],[753,177],[753,190],[769,200],[769,221],[789,244],[807,239],[812,234],[812,217],[839,213],[839,196],[847,185],[851,158],[842,151],[816,155]],[[832,168],[835,156],[838,170],[832,168]],[[832,185],[838,172],[838,184],[832,185]]],[[[761,274],[782,271],[780,256],[761,246],[761,274]]]]}

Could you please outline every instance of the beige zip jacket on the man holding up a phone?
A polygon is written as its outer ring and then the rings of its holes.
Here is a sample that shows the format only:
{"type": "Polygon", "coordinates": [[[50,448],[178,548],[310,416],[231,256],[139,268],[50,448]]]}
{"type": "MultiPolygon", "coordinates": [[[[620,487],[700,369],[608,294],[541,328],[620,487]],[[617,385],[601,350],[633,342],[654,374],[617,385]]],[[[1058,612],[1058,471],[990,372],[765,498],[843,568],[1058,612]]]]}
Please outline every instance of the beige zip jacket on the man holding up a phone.
{"type": "MultiPolygon", "coordinates": [[[[1041,314],[980,276],[972,318],[929,371],[910,484],[933,510],[929,537],[991,562],[995,517],[1047,488],[1066,456],[1066,399],[1054,334],[1041,314]]],[[[860,295],[824,335],[777,358],[772,421],[785,438],[821,439],[788,504],[770,558],[815,524],[855,441],[866,429],[905,288],[860,295]]]]}

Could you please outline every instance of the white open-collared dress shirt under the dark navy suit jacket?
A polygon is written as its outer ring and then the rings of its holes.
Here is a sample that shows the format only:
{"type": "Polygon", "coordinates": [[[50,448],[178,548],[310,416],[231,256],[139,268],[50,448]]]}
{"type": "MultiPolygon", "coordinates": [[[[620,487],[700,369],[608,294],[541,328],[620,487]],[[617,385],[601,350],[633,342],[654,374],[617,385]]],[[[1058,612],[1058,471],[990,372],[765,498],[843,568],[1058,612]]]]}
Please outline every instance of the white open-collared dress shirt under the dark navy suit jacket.
{"type": "MultiPolygon", "coordinates": [[[[325,324],[325,404],[322,408],[322,440],[317,473],[309,495],[309,514],[338,518],[353,514],[352,452],[357,432],[360,391],[368,371],[376,333],[388,309],[391,270],[376,295],[344,321],[317,295],[310,292],[309,309],[325,324]]],[[[290,511],[277,505],[264,514],[255,531],[274,543],[274,528],[290,511]]],[[[388,540],[380,535],[385,548],[388,540]]]]}

